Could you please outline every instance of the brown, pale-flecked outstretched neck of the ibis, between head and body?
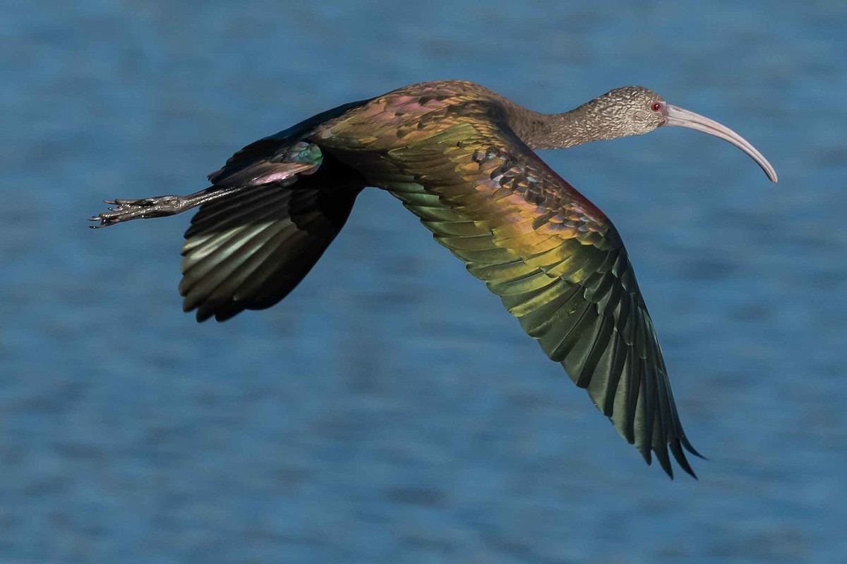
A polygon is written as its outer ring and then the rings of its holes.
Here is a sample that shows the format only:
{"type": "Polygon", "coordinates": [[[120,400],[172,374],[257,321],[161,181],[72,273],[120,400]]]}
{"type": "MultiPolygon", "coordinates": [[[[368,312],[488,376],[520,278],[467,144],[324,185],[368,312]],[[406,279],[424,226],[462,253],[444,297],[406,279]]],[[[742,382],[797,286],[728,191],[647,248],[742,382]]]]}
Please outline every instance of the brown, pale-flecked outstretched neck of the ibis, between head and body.
{"type": "Polygon", "coordinates": [[[512,129],[530,149],[565,149],[590,141],[622,137],[590,101],[570,112],[541,113],[524,107],[510,112],[512,129]]]}

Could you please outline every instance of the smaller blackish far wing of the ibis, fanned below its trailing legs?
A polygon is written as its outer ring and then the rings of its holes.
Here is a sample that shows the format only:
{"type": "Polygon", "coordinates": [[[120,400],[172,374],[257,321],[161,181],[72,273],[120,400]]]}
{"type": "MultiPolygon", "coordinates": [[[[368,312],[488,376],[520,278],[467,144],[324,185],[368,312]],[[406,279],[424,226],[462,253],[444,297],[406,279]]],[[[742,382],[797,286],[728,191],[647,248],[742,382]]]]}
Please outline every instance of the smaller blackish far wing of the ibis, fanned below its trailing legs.
{"type": "Polygon", "coordinates": [[[344,227],[363,188],[328,188],[320,176],[202,205],[182,247],[183,309],[197,309],[198,321],[223,321],[285,298],[344,227]]]}

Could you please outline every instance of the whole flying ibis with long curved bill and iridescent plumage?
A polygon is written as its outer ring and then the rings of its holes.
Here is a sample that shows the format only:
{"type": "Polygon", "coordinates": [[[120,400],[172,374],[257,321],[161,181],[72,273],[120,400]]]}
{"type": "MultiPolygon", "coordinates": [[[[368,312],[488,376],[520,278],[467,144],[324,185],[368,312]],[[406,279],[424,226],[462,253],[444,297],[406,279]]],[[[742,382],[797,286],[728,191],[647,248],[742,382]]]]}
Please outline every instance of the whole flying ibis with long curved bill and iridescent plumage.
{"type": "Polygon", "coordinates": [[[673,478],[670,450],[696,478],[685,451],[700,454],[680,424],[623,241],[534,153],[672,125],[729,141],[777,181],[739,134],[640,86],[545,114],[472,82],[439,80],[257,140],[194,194],[107,200],[113,207],[92,227],[200,206],[185,232],[180,294],[197,320],[223,321],[285,298],[344,227],[357,194],[383,189],[501,297],[648,464],[652,452],[673,478]]]}

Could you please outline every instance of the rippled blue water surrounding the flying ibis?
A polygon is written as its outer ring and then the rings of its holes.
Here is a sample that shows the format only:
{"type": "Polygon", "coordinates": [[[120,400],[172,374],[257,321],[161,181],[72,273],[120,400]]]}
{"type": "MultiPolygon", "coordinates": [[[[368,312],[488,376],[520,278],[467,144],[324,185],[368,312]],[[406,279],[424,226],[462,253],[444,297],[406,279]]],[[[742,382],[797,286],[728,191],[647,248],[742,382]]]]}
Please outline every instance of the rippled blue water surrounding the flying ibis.
{"type": "Polygon", "coordinates": [[[0,561],[839,562],[841,2],[11,2],[0,19],[0,561]],[[180,311],[185,193],[342,102],[641,84],[737,129],[545,159],[623,233],[700,481],[645,468],[499,300],[366,191],[307,282],[180,311]]]}

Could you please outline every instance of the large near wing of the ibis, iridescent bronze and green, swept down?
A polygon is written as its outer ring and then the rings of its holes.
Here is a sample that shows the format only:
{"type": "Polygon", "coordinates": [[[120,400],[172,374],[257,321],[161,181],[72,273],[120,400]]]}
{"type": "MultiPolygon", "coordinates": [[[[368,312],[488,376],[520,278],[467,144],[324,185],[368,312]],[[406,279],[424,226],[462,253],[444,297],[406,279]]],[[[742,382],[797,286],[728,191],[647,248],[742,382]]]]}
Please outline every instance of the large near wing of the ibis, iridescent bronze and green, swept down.
{"type": "MultiPolygon", "coordinates": [[[[385,118],[390,104],[383,106],[385,118]]],[[[653,322],[612,222],[489,105],[389,118],[388,131],[379,131],[379,108],[365,108],[316,139],[357,144],[358,156],[348,158],[501,297],[648,464],[652,451],[673,478],[669,447],[694,476],[683,449],[700,455],[679,422],[653,322]]]]}

